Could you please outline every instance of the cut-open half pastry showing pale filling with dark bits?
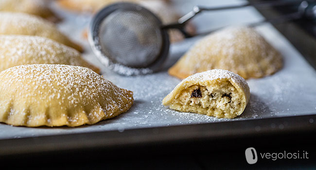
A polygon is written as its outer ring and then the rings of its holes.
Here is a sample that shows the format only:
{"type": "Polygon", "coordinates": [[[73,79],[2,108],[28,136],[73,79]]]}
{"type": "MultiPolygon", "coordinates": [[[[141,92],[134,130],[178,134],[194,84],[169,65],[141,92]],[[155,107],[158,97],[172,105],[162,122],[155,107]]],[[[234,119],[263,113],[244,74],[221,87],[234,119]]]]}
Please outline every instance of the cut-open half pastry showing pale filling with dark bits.
{"type": "Polygon", "coordinates": [[[212,69],[184,79],[162,104],[181,112],[232,119],[243,113],[249,97],[244,78],[228,70],[212,69]]]}

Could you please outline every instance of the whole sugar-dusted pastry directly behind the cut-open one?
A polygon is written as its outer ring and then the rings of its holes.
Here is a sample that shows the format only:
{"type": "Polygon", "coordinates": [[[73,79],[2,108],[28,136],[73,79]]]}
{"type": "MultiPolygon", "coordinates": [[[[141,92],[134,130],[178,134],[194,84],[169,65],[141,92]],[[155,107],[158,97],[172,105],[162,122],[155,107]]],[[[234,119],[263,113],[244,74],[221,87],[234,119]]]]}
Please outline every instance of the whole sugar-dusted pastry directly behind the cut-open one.
{"type": "Polygon", "coordinates": [[[198,41],[168,70],[186,78],[197,72],[221,68],[247,78],[270,75],[282,67],[282,57],[254,29],[230,27],[198,41]]]}

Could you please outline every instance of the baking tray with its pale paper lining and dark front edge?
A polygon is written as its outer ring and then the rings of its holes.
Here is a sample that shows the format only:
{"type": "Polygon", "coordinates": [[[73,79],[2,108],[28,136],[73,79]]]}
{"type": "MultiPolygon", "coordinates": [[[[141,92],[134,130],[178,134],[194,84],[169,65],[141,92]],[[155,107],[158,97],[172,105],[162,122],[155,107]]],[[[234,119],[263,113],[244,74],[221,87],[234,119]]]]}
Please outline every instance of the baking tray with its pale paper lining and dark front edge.
{"type": "MultiPolygon", "coordinates": [[[[175,0],[175,2],[176,9],[185,13],[197,4],[216,6],[243,1],[175,0]]],[[[217,119],[194,113],[181,113],[161,104],[162,99],[181,81],[169,76],[167,69],[201,37],[172,44],[170,55],[161,71],[149,75],[126,77],[100,65],[90,50],[88,41],[83,38],[82,32],[88,26],[90,15],[67,12],[54,3],[52,8],[64,17],[63,22],[58,25],[59,28],[65,34],[71,33],[69,36],[85,47],[84,58],[100,67],[106,79],[122,88],[132,90],[134,104],[130,110],[116,118],[76,128],[29,128],[0,123],[0,155],[180,140],[194,137],[190,129],[200,130],[199,133],[196,132],[195,137],[198,135],[225,137],[231,136],[234,132],[249,135],[268,130],[291,131],[292,128],[298,127],[295,123],[299,123],[300,127],[306,126],[306,129],[315,128],[316,71],[271,24],[263,24],[256,27],[256,30],[281,52],[284,61],[283,68],[271,76],[247,80],[251,96],[244,113],[235,119],[217,119]],[[183,130],[188,130],[188,134],[179,133],[181,127],[183,130]],[[202,127],[205,129],[201,130],[202,127]],[[233,127],[238,127],[239,131],[230,129],[233,127]],[[214,128],[218,129],[214,131],[214,128]],[[160,138],[153,137],[153,134],[158,134],[160,138]],[[93,139],[91,136],[99,136],[99,138],[93,139]],[[76,142],[76,137],[81,139],[79,143],[76,142]],[[118,140],[119,138],[122,140],[118,140]],[[67,141],[61,142],[64,139],[67,141]]],[[[263,16],[255,8],[246,7],[203,13],[194,18],[193,23],[196,25],[197,32],[204,32],[226,25],[245,24],[262,19],[263,16]]]]}

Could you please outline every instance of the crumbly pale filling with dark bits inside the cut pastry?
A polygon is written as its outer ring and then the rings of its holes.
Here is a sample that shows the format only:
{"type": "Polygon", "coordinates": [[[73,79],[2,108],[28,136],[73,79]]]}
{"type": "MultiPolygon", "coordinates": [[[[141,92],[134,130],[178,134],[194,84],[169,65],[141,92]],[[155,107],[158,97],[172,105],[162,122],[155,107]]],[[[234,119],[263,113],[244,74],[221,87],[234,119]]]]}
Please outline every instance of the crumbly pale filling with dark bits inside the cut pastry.
{"type": "Polygon", "coordinates": [[[234,118],[240,106],[246,104],[243,98],[229,81],[216,81],[184,89],[170,107],[217,118],[234,118]]]}

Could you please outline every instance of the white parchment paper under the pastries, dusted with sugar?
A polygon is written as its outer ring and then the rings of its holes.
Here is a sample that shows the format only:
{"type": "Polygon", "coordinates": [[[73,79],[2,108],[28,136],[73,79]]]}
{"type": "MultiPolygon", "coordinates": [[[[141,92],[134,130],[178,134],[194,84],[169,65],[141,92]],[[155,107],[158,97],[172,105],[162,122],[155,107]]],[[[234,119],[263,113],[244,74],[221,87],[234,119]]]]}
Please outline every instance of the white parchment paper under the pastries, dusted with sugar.
{"type": "MultiPolygon", "coordinates": [[[[175,6],[180,12],[185,13],[189,12],[196,4],[216,6],[240,2],[243,1],[194,0],[193,2],[193,0],[176,0],[175,6]]],[[[162,99],[180,82],[179,79],[169,76],[166,72],[167,69],[200,37],[173,44],[170,56],[162,71],[150,75],[124,77],[100,65],[100,62],[91,52],[88,41],[82,36],[82,31],[88,26],[90,15],[71,13],[59,8],[54,3],[52,8],[65,18],[58,25],[61,31],[85,47],[86,52],[83,54],[85,59],[102,68],[106,79],[120,87],[134,91],[134,105],[129,111],[114,119],[76,128],[28,128],[0,123],[0,139],[113,130],[123,132],[125,129],[133,128],[263,119],[316,113],[316,71],[270,24],[264,24],[256,29],[272,46],[281,51],[284,67],[272,76],[247,80],[251,96],[244,113],[235,119],[217,119],[194,113],[177,112],[161,105],[162,99]]],[[[194,18],[193,23],[196,25],[197,31],[203,32],[225,25],[259,21],[262,18],[254,8],[246,7],[237,10],[203,13],[194,18]]]]}

